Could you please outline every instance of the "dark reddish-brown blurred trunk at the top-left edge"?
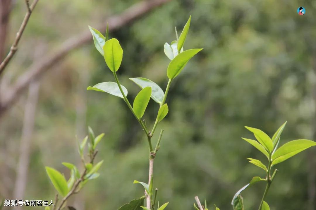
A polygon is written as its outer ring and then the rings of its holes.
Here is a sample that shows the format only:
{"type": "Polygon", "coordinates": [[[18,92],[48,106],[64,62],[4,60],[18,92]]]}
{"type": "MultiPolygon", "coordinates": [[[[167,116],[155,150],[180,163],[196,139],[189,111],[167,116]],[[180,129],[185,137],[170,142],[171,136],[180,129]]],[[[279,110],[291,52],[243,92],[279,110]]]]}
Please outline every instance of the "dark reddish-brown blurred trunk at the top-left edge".
{"type": "Polygon", "coordinates": [[[5,52],[5,41],[7,39],[9,14],[11,11],[11,0],[0,0],[0,63],[5,52]]]}

